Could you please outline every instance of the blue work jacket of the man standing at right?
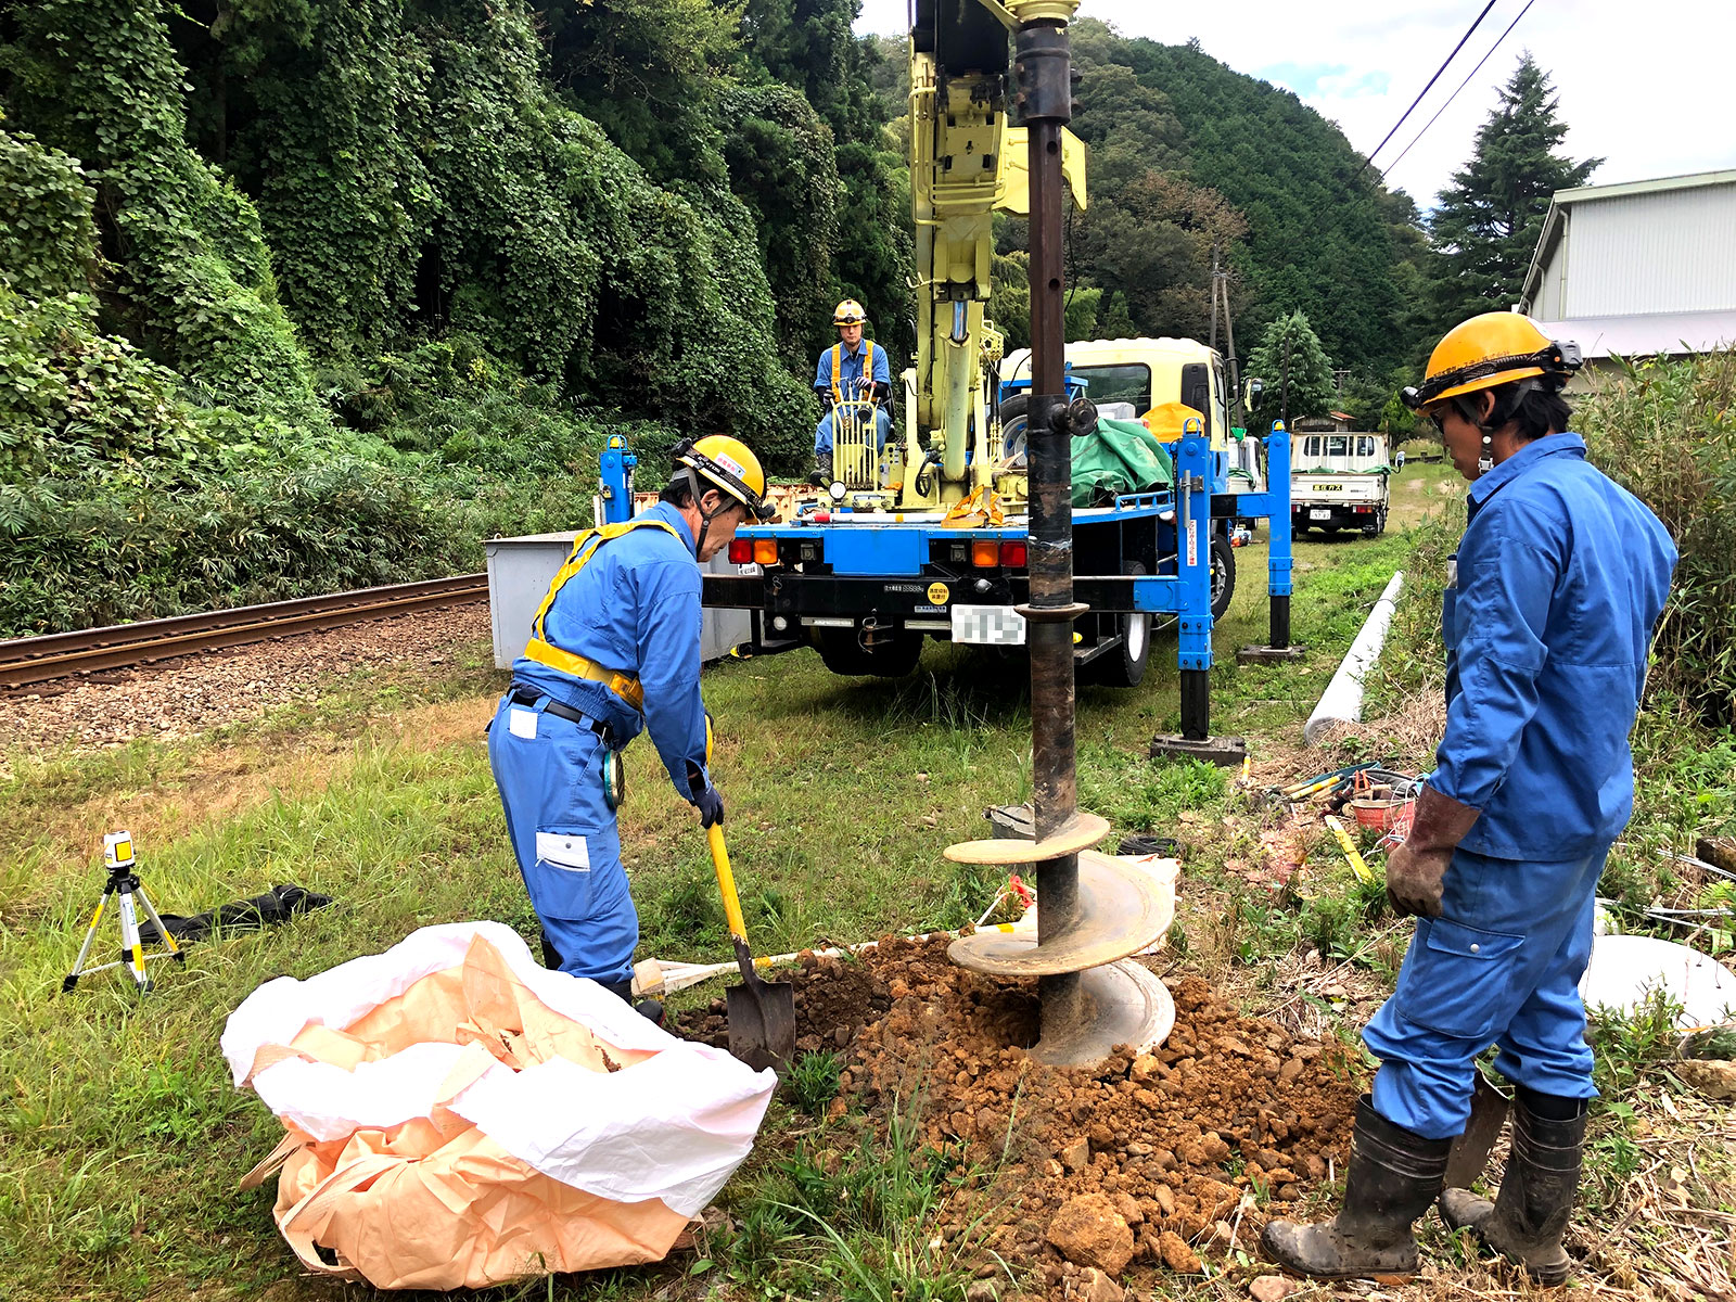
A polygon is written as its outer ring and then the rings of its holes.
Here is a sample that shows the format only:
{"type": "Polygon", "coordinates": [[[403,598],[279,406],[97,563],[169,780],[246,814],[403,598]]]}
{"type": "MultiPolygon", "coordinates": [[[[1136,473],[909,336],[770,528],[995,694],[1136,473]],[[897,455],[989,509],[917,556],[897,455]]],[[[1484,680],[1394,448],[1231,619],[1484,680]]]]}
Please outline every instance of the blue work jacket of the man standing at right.
{"type": "Polygon", "coordinates": [[[1429,785],[1483,811],[1463,849],[1562,863],[1634,812],[1628,733],[1675,543],[1578,434],[1470,486],[1441,608],[1446,734],[1429,785]]]}

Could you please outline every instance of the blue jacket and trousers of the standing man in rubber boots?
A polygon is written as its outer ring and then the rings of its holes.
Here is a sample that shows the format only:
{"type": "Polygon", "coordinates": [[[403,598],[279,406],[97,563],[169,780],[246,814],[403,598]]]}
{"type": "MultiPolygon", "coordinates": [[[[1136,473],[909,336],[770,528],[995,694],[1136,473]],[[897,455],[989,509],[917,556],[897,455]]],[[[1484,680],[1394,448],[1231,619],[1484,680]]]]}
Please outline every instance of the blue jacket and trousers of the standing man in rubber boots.
{"type": "Polygon", "coordinates": [[[1491,1043],[1514,1083],[1597,1094],[1578,984],[1604,856],[1634,812],[1628,733],[1675,568],[1668,531],[1578,434],[1522,444],[1469,496],[1429,785],[1483,816],[1363,1031],[1375,1111],[1425,1139],[1465,1128],[1491,1043]]]}

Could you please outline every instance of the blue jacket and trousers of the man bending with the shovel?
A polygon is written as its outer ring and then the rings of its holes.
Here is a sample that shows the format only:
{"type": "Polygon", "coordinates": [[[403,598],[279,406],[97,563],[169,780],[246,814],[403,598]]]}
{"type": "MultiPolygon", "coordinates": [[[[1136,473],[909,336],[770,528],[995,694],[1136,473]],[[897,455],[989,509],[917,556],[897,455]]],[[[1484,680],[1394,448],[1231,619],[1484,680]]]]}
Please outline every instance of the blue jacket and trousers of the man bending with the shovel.
{"type": "MultiPolygon", "coordinates": [[[[660,519],[602,542],[554,595],[543,641],[635,677],[644,710],[604,682],[519,656],[514,689],[488,727],[488,762],[500,788],[507,835],[543,934],[561,970],[604,984],[630,981],[639,915],[621,866],[615,811],[604,799],[602,759],[651,733],[684,800],[687,766],[705,773],[705,701],[700,698],[700,566],[681,512],[658,503],[635,519],[660,519]],[[533,696],[517,703],[514,694],[533,696]],[[549,713],[559,701],[587,722],[549,713]],[[602,724],[608,743],[590,726],[602,724]]],[[[710,778],[707,776],[708,783],[710,778]]]]}

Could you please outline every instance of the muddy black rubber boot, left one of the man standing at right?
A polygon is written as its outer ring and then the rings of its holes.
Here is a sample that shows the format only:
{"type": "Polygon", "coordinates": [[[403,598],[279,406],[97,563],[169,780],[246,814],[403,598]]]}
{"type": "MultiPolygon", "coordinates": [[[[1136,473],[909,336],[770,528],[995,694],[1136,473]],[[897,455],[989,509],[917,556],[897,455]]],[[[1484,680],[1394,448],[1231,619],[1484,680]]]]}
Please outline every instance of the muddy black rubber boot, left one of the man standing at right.
{"type": "Polygon", "coordinates": [[[1266,1255],[1314,1279],[1401,1283],[1417,1274],[1411,1226],[1441,1196],[1451,1139],[1424,1139],[1375,1111],[1364,1094],[1356,1109],[1344,1210],[1318,1226],[1271,1220],[1266,1255]]]}

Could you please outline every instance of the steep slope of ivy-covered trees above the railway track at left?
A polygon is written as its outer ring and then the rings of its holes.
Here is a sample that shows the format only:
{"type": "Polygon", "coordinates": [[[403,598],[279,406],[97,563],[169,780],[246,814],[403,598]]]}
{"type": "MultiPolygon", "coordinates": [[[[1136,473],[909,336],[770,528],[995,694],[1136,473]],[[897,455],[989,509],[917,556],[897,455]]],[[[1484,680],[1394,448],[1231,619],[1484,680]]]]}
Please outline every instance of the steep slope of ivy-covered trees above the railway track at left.
{"type": "Polygon", "coordinates": [[[901,226],[778,80],[859,80],[849,0],[766,9],[0,0],[0,634],[476,568],[611,429],[793,465],[901,226]]]}

